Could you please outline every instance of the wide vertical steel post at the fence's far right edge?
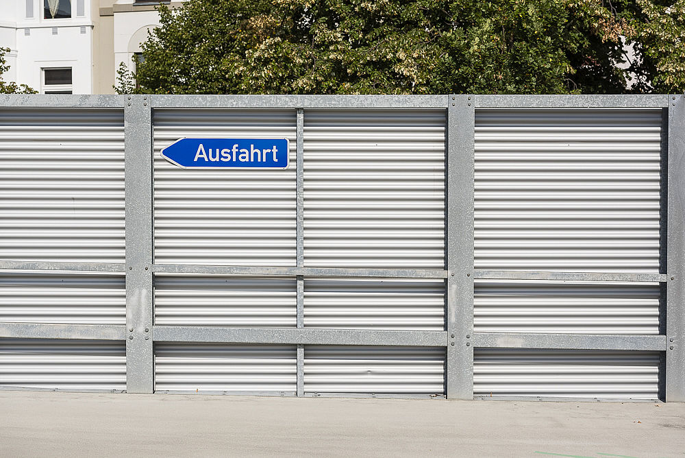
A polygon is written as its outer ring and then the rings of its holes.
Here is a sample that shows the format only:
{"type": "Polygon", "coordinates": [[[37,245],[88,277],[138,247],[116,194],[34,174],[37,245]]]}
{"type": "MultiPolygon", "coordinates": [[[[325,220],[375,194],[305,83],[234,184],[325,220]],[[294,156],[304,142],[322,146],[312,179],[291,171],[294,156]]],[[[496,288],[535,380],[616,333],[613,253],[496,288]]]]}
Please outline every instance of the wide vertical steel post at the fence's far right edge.
{"type": "Polygon", "coordinates": [[[666,400],[685,401],[685,100],[669,97],[666,400]]]}

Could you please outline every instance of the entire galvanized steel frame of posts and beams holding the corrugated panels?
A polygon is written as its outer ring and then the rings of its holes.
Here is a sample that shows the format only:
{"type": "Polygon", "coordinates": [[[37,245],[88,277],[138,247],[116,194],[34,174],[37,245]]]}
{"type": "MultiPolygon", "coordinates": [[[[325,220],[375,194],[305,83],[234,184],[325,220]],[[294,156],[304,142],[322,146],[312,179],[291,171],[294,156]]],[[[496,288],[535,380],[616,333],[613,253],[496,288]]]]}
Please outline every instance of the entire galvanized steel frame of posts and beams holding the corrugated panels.
{"type": "MultiPolygon", "coordinates": [[[[312,394],[303,391],[306,345],[438,346],[447,348],[448,398],[473,398],[473,348],[557,348],[662,351],[666,398],[685,401],[685,101],[682,95],[0,95],[5,108],[119,108],[125,116],[126,263],[0,260],[1,271],[119,272],[127,285],[126,326],[0,324],[0,337],[102,339],[127,342],[127,392],[154,390],[153,341],[282,343],[297,346],[297,392],[281,396],[408,398],[405,395],[312,394]],[[173,108],[292,108],[297,113],[297,267],[155,265],[153,263],[152,110],[173,108]],[[445,269],[303,267],[303,124],[308,108],[444,109],[446,115],[445,269]],[[474,271],[473,128],[476,108],[664,108],[668,122],[667,270],[660,274],[474,271]],[[153,274],[286,276],[297,280],[297,328],[153,325],[153,274]],[[445,331],[304,328],[306,277],[436,278],[447,284],[445,331]],[[473,280],[662,282],[667,288],[667,335],[473,333],[473,280]]],[[[664,126],[665,127],[665,126],[664,126]]],[[[666,203],[662,203],[664,205],[666,203]]],[[[166,391],[164,391],[166,392],[166,391]]],[[[171,391],[169,391],[171,392],[171,391]]],[[[219,391],[225,394],[225,392],[219,391]]],[[[245,394],[253,394],[245,392],[245,394]]],[[[270,393],[279,396],[278,393],[270,393]]],[[[435,396],[421,396],[435,397],[435,396]]],[[[529,398],[530,399],[530,398],[529,398]]]]}

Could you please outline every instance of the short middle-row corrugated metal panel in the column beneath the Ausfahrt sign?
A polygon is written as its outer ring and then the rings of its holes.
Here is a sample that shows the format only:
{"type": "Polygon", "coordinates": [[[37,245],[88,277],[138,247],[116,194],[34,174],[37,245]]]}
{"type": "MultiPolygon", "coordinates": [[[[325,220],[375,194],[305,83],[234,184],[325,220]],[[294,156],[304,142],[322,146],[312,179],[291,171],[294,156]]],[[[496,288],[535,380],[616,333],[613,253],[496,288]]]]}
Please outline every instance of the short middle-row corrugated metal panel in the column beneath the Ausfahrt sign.
{"type": "Polygon", "coordinates": [[[155,324],[295,327],[294,278],[155,276],[155,324]]]}

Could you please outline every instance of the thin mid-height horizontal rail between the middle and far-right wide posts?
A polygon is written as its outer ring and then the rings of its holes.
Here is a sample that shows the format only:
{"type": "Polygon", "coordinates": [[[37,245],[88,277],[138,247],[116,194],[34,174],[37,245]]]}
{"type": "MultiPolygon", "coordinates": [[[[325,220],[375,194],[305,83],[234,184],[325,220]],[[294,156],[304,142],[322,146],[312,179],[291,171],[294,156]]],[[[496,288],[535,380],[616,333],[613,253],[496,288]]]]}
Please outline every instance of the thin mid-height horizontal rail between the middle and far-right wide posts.
{"type": "Polygon", "coordinates": [[[595,272],[519,272],[475,270],[473,278],[487,280],[580,280],[589,282],[665,282],[665,274],[601,274],[595,272]]]}

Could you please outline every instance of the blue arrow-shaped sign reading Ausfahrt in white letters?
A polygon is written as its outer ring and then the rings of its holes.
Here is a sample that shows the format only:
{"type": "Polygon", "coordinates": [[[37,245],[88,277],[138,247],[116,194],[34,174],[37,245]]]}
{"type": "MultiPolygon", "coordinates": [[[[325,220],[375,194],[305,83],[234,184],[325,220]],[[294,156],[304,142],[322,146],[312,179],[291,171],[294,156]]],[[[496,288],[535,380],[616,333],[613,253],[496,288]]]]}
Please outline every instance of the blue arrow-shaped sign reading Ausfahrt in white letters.
{"type": "Polygon", "coordinates": [[[162,157],[183,169],[287,169],[288,138],[179,138],[162,157]]]}

